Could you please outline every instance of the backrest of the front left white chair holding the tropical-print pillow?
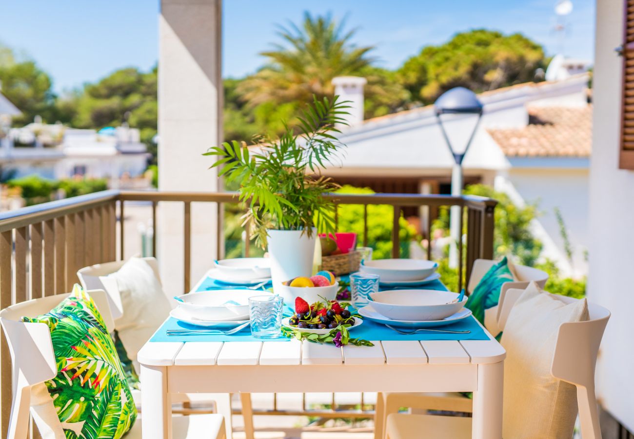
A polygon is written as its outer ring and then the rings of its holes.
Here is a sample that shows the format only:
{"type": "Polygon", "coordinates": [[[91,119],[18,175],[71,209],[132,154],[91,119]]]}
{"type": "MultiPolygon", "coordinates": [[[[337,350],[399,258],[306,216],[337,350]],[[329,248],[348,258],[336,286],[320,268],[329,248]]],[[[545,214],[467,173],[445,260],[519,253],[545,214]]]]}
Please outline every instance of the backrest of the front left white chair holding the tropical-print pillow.
{"type": "MultiPolygon", "coordinates": [[[[70,294],[70,293],[68,293],[70,294]]],[[[68,294],[57,294],[33,299],[0,311],[0,324],[4,329],[11,364],[13,366],[13,402],[8,438],[27,438],[31,388],[55,377],[57,366],[51,342],[51,332],[43,323],[21,322],[22,317],[37,317],[55,308],[68,294]]],[[[88,291],[100,310],[108,331],[114,329],[108,296],[103,290],[88,291]]]]}

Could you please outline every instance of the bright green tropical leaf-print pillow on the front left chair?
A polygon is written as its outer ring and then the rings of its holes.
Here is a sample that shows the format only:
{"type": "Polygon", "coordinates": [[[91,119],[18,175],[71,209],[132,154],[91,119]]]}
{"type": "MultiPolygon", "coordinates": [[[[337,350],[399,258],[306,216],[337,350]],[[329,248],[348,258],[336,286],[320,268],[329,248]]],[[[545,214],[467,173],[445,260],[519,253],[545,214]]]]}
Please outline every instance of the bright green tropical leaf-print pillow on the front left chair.
{"type": "Polygon", "coordinates": [[[93,299],[79,285],[49,313],[23,322],[48,325],[57,375],[46,388],[67,439],[119,439],[136,407],[112,338],[93,299]]]}

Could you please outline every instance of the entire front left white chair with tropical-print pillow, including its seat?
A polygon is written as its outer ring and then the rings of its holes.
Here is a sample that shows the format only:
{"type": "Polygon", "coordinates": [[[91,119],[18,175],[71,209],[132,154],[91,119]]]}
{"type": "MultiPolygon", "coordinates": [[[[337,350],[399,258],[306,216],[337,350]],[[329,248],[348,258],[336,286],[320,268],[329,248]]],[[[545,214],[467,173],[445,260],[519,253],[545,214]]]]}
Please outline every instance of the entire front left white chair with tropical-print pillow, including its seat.
{"type": "MultiPolygon", "coordinates": [[[[100,309],[109,330],[114,322],[110,306],[103,290],[89,291],[90,296],[100,309]]],[[[0,324],[11,353],[13,364],[13,402],[9,421],[9,439],[29,437],[29,411],[31,408],[31,389],[37,384],[52,379],[57,374],[55,353],[51,342],[49,327],[42,323],[24,323],[23,316],[36,317],[55,308],[68,294],[58,294],[46,298],[34,299],[9,306],[0,311],[0,324]]],[[[195,416],[174,416],[172,419],[174,438],[224,439],[224,419],[219,414],[195,416]]],[[[137,419],[126,438],[141,438],[141,422],[137,419]]]]}

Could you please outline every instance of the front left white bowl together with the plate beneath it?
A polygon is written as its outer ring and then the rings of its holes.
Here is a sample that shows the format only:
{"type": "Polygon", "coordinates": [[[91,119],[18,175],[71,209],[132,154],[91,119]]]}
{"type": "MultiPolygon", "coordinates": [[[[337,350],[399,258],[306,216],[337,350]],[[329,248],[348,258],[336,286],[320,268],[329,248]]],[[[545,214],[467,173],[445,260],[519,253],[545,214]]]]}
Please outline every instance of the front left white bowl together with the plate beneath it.
{"type": "Polygon", "coordinates": [[[264,291],[231,289],[190,292],[179,296],[171,317],[191,325],[230,329],[249,321],[249,298],[264,291]]]}

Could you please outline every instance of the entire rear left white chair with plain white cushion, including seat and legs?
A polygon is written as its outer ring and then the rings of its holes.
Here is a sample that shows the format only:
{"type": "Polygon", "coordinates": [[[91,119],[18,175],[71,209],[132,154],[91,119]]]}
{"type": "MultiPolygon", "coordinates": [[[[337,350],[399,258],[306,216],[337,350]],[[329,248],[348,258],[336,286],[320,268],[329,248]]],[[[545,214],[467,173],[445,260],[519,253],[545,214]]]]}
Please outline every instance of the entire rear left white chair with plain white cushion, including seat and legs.
{"type": "MultiPolygon", "coordinates": [[[[152,267],[154,274],[160,282],[159,275],[159,262],[156,258],[142,258],[145,260],[148,265],[152,267]]],[[[117,272],[126,261],[114,261],[107,262],[102,264],[96,264],[81,268],[77,272],[77,277],[79,277],[79,282],[82,287],[87,290],[91,289],[103,289],[108,294],[108,301],[110,306],[113,307],[113,317],[114,320],[124,315],[126,310],[122,305],[121,296],[119,293],[119,288],[117,287],[117,282],[115,278],[108,278],[108,275],[111,273],[117,272]]],[[[165,316],[167,318],[167,316],[165,316]]],[[[136,361],[134,361],[135,369],[138,371],[139,365],[136,361]]],[[[141,384],[143,385],[143,384],[141,384]]],[[[137,407],[141,410],[140,403],[140,392],[138,390],[133,390],[134,401],[137,403],[137,407]]],[[[213,394],[185,394],[185,393],[176,393],[172,395],[172,402],[181,403],[182,408],[175,409],[174,412],[178,412],[180,414],[193,414],[196,413],[196,410],[191,409],[191,403],[197,403],[197,405],[203,405],[209,407],[210,400],[216,402],[216,411],[220,414],[224,415],[225,426],[226,426],[226,434],[227,437],[231,437],[231,433],[233,430],[233,423],[231,422],[231,395],[228,393],[213,393],[213,394]]],[[[240,393],[240,402],[242,404],[242,416],[244,418],[244,429],[245,435],[247,439],[253,439],[254,431],[253,431],[253,411],[251,406],[251,399],[249,393],[240,393]]]]}

